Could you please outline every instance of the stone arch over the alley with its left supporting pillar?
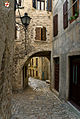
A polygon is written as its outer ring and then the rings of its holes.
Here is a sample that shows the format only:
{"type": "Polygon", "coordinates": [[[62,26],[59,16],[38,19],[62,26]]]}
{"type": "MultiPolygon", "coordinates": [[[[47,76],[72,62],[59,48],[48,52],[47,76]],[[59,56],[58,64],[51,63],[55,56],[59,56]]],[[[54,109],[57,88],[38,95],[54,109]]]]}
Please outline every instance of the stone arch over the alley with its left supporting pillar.
{"type": "Polygon", "coordinates": [[[19,59],[17,65],[16,65],[16,72],[15,72],[15,78],[12,82],[13,90],[23,90],[28,82],[25,82],[25,86],[23,86],[23,66],[28,65],[30,59],[32,57],[47,57],[50,60],[51,57],[51,51],[43,51],[43,50],[35,50],[33,52],[30,52],[28,55],[25,55],[23,59],[19,59]]]}

